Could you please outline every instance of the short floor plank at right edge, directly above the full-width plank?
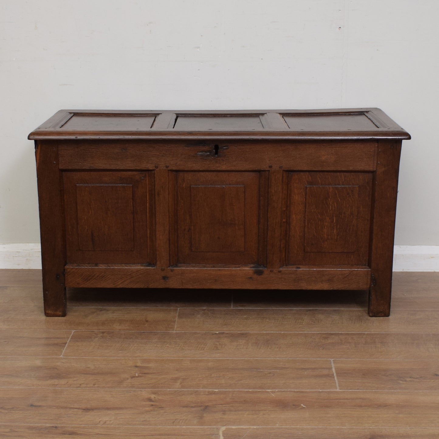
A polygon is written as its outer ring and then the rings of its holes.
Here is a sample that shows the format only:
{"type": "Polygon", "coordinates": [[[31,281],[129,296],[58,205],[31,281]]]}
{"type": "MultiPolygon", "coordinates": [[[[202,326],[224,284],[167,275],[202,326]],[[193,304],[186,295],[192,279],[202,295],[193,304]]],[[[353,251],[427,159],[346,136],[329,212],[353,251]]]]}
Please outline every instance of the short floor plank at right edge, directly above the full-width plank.
{"type": "Polygon", "coordinates": [[[439,390],[439,361],[334,360],[334,367],[342,390],[439,390]]]}

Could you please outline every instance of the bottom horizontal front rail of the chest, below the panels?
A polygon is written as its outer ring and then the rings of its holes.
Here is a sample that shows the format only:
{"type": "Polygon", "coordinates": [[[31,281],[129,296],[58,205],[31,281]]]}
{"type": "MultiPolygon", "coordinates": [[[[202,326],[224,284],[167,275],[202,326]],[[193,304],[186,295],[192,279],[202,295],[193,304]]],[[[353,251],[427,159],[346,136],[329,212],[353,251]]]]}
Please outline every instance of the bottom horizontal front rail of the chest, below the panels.
{"type": "MultiPolygon", "coordinates": [[[[256,248],[257,249],[257,248],[256,248]]],[[[65,267],[68,287],[91,288],[249,288],[249,289],[358,289],[370,285],[365,266],[302,266],[282,270],[249,268],[152,268],[88,266],[65,267]]]]}

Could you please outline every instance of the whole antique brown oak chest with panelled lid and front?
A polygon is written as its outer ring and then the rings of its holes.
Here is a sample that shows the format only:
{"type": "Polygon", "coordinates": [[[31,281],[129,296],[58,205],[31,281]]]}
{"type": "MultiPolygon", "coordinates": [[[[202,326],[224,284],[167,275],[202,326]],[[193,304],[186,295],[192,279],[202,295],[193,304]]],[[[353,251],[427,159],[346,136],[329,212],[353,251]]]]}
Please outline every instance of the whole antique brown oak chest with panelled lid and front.
{"type": "Polygon", "coordinates": [[[47,316],[66,287],[369,289],[389,315],[410,135],[378,108],[61,110],[29,139],[47,316]]]}

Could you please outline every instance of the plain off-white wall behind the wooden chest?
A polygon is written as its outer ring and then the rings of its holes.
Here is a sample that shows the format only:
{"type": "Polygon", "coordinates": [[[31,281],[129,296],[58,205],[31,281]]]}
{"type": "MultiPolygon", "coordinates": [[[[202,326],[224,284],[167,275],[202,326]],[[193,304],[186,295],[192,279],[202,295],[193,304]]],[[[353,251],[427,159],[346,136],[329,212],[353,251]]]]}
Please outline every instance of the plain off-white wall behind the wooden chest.
{"type": "Polygon", "coordinates": [[[408,130],[396,244],[439,245],[437,0],[2,0],[0,244],[39,241],[60,108],[380,107],[408,130]]]}

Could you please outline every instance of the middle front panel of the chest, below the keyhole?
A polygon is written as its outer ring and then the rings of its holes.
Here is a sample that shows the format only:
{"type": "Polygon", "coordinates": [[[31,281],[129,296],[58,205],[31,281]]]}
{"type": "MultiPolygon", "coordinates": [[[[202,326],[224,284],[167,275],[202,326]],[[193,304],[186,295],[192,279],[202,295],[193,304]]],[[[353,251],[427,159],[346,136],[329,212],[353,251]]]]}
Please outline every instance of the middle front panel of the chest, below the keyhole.
{"type": "Polygon", "coordinates": [[[174,262],[265,264],[260,229],[266,221],[266,174],[177,172],[174,262]]]}

